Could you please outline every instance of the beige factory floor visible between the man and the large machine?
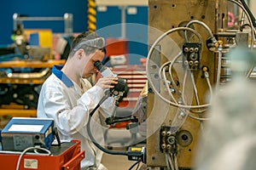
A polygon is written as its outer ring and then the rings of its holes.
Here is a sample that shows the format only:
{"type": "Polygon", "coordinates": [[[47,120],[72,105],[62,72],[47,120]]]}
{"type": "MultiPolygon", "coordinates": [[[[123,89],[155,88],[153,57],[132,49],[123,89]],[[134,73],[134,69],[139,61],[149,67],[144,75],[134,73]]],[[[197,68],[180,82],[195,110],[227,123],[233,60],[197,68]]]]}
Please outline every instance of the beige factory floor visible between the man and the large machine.
{"type": "MultiPolygon", "coordinates": [[[[140,141],[141,139],[143,138],[138,133],[131,134],[125,129],[115,129],[108,131],[106,142],[110,146],[108,147],[108,150],[126,151],[130,144],[137,146],[145,145],[143,142],[137,143],[137,141],[140,141]],[[111,146],[113,146],[113,148],[111,146]]],[[[136,161],[129,161],[127,156],[104,153],[102,157],[102,164],[105,167],[108,167],[108,170],[128,170],[135,162],[136,161]]],[[[138,168],[135,166],[132,170],[139,169],[142,166],[143,163],[141,162],[138,165],[138,168]]]]}

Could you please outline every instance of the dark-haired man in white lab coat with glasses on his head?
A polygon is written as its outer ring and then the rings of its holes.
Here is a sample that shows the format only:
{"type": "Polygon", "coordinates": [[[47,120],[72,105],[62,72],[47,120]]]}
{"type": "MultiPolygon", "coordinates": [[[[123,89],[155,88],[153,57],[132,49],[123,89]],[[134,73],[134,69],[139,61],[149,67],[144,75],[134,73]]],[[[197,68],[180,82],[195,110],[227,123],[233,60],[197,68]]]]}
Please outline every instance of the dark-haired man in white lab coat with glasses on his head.
{"type": "MultiPolygon", "coordinates": [[[[73,40],[64,66],[55,65],[44,82],[38,99],[38,117],[54,118],[60,139],[79,139],[85,158],[81,169],[107,169],[101,164],[102,151],[90,141],[86,124],[92,111],[104,96],[104,90],[117,84],[117,77],[102,77],[94,86],[86,79],[96,73],[94,63],[102,61],[105,42],[95,32],[83,32],[73,40]]],[[[100,114],[110,116],[114,99],[109,97],[92,116],[90,129],[96,142],[103,144],[100,114]]]]}

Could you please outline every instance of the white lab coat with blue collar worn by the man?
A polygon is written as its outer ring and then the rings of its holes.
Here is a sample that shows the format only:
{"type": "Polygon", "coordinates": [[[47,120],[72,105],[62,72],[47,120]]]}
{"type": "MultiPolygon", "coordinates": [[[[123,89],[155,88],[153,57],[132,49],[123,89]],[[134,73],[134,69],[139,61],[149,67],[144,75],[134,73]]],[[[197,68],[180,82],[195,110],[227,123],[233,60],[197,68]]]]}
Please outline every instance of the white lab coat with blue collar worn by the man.
{"type": "MultiPolygon", "coordinates": [[[[38,117],[54,118],[60,139],[70,141],[79,139],[81,150],[85,150],[85,158],[81,161],[81,167],[101,165],[102,150],[90,141],[86,123],[88,116],[104,96],[104,91],[98,86],[91,87],[88,80],[83,79],[83,89],[68,79],[63,72],[56,67],[53,73],[44,82],[38,99],[38,117]]],[[[113,111],[113,98],[105,100],[96,110],[90,122],[90,129],[96,142],[104,144],[103,126],[99,114],[110,116],[113,111]]]]}

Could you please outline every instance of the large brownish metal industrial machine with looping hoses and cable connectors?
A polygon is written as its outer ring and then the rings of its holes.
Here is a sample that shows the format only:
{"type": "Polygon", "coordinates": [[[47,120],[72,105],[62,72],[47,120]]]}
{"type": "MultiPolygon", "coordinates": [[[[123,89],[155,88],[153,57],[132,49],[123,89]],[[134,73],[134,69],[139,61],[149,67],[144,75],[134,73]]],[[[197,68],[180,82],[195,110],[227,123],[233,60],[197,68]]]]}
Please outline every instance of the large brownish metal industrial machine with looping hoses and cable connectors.
{"type": "Polygon", "coordinates": [[[232,79],[228,54],[254,40],[242,0],[148,1],[147,167],[193,169],[212,95],[232,79]]]}

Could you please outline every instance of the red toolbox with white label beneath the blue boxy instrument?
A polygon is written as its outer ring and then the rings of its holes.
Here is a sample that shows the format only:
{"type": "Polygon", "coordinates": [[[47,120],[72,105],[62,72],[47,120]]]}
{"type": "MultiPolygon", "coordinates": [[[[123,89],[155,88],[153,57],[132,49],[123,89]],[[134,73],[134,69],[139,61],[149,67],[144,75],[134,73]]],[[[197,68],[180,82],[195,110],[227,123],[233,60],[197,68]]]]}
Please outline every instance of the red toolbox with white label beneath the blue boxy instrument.
{"type": "MultiPolygon", "coordinates": [[[[52,145],[50,156],[25,154],[20,159],[19,170],[79,170],[80,162],[84,159],[84,150],[80,150],[80,141],[61,143],[61,146],[52,145]]],[[[4,151],[3,151],[4,152],[4,151]]],[[[20,154],[0,152],[1,169],[15,170],[20,154]]]]}

